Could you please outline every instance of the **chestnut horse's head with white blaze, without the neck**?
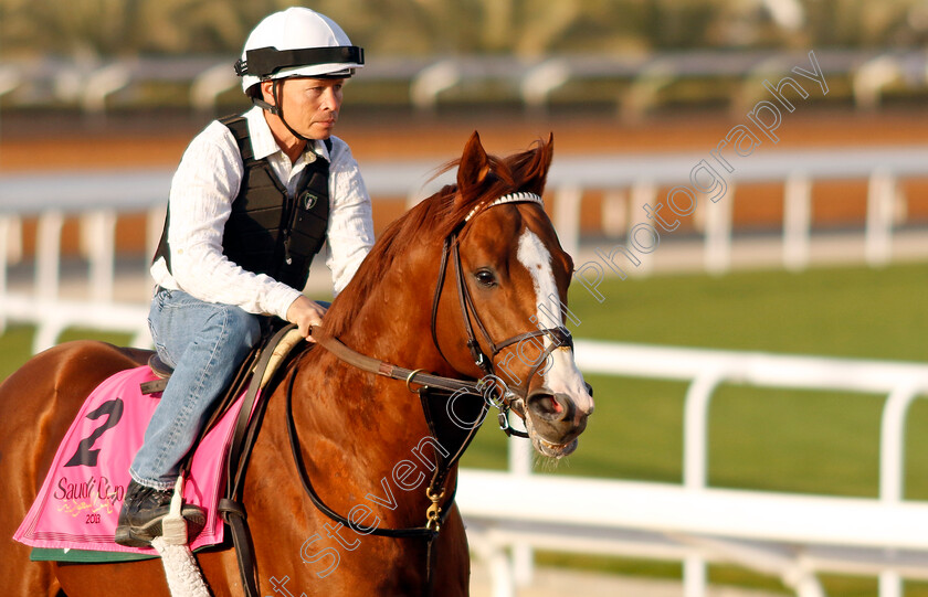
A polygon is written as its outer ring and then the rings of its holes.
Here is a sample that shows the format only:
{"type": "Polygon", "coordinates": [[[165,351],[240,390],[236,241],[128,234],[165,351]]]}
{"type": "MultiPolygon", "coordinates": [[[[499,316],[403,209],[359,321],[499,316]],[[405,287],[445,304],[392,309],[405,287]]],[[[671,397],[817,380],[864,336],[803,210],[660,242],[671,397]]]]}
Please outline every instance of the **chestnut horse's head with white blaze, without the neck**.
{"type": "Polygon", "coordinates": [[[552,151],[549,139],[497,159],[471,137],[445,190],[432,327],[452,367],[502,388],[536,449],[560,457],[576,449],[593,399],[565,328],[573,262],[541,204],[552,151]]]}

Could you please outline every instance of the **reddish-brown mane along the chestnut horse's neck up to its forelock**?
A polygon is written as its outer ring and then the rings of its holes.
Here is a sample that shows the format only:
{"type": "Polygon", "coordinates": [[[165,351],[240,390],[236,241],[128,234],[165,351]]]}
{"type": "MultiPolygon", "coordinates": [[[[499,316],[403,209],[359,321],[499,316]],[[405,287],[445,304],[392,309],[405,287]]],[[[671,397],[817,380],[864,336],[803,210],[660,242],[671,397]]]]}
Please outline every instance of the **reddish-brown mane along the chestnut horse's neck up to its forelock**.
{"type": "MultiPolygon", "coordinates": [[[[367,297],[380,284],[386,271],[392,266],[397,255],[413,241],[434,243],[441,246],[444,238],[467,216],[485,198],[497,198],[507,193],[521,191],[527,180],[536,180],[539,172],[527,171],[532,164],[537,151],[544,147],[541,141],[536,147],[505,159],[487,156],[489,172],[479,185],[472,185],[461,195],[457,184],[449,184],[432,196],[423,200],[405,214],[390,224],[365,258],[351,282],[345,288],[338,300],[333,302],[331,309],[325,317],[325,328],[333,335],[345,333],[349,323],[355,319],[357,310],[365,303],[367,297]]],[[[461,159],[449,162],[441,168],[435,177],[446,172],[461,163],[461,159]]],[[[542,164],[547,168],[547,163],[542,164]]],[[[536,170],[536,169],[531,169],[536,170]]],[[[544,185],[544,173],[541,184],[544,185]]],[[[531,191],[540,194],[540,189],[531,191]]],[[[463,233],[466,233],[466,226],[463,233]]]]}

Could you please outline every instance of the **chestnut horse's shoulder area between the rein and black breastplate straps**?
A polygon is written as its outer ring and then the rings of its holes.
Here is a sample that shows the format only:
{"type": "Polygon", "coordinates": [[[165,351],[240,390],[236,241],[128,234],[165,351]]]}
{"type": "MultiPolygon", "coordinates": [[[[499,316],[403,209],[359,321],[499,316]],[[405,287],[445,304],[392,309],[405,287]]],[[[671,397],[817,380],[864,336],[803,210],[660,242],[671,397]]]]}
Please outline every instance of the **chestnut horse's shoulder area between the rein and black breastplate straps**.
{"type": "Polygon", "coordinates": [[[386,525],[421,523],[435,448],[418,395],[314,352],[299,367],[293,416],[319,494],[342,514],[365,503],[386,525]]]}

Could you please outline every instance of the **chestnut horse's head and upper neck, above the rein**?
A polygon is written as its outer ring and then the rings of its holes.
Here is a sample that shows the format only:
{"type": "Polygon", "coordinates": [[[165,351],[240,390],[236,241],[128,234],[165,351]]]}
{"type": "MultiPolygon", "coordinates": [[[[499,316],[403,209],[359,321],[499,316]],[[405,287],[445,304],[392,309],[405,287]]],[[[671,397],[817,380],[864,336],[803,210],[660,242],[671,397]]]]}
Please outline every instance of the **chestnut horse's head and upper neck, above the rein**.
{"type": "Polygon", "coordinates": [[[333,302],[325,333],[421,367],[413,376],[481,380],[488,402],[525,419],[539,452],[560,457],[576,449],[593,398],[565,328],[573,262],[541,204],[552,150],[549,140],[499,159],[475,132],[449,166],[457,184],[383,232],[333,302]]]}

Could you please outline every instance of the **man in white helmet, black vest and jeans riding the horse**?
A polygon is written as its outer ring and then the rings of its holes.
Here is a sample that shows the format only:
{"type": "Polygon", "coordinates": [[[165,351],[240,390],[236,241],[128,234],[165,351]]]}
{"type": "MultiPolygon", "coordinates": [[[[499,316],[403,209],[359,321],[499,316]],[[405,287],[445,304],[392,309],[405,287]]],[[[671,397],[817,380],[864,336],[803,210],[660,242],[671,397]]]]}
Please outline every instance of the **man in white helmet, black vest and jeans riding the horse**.
{"type": "MultiPolygon", "coordinates": [[[[254,106],[211,122],[173,175],[151,266],[149,326],[173,367],[133,460],[116,542],[161,534],[180,462],[236,369],[262,337],[262,316],[312,341],[326,308],[302,294],[327,243],[338,294],[373,244],[371,203],[348,145],[331,136],[342,86],[363,50],[329,18],[291,8],[261,21],[235,71],[254,106]]],[[[181,511],[190,534],[201,509],[181,511]]]]}

